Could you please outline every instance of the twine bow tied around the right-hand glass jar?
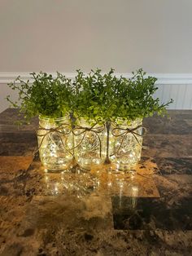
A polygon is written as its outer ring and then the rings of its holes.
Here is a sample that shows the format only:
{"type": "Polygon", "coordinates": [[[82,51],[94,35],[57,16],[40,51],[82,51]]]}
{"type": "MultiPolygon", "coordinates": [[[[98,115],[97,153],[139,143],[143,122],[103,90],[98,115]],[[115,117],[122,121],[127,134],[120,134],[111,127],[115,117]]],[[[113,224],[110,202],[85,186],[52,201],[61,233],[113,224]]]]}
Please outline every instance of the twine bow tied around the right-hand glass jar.
{"type": "MultiPolygon", "coordinates": [[[[116,152],[114,152],[113,154],[110,155],[110,157],[114,156],[116,153],[118,153],[120,151],[120,148],[122,147],[122,144],[124,143],[124,139],[126,138],[126,136],[130,133],[134,136],[134,138],[137,140],[137,143],[141,145],[141,143],[139,142],[139,140],[137,139],[137,136],[139,137],[142,137],[143,135],[140,135],[138,134],[135,130],[137,130],[138,128],[142,128],[144,131],[145,131],[145,134],[146,134],[146,127],[140,125],[140,126],[137,126],[133,129],[130,129],[130,128],[120,128],[120,127],[116,127],[116,128],[113,128],[111,130],[111,134],[114,136],[114,137],[121,137],[123,136],[123,138],[121,139],[121,142],[120,142],[120,146],[119,148],[116,150],[116,152]],[[120,131],[123,131],[120,135],[116,135],[116,130],[120,130],[120,131]]],[[[145,135],[144,134],[144,135],[145,135]]],[[[143,147],[144,148],[144,147],[143,147]]]]}

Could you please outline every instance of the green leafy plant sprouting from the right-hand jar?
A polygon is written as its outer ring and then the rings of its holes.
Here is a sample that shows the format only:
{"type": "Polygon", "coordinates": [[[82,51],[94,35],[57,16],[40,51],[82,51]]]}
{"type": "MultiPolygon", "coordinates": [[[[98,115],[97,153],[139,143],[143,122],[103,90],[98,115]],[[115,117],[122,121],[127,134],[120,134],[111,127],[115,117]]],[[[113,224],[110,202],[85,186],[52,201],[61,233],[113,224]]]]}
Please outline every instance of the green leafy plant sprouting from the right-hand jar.
{"type": "Polygon", "coordinates": [[[160,104],[159,98],[153,95],[158,87],[155,86],[156,77],[146,77],[142,68],[133,73],[133,77],[124,79],[120,77],[116,83],[116,121],[130,123],[136,118],[151,117],[154,113],[164,116],[166,107],[172,103],[172,99],[166,104],[160,104]]]}

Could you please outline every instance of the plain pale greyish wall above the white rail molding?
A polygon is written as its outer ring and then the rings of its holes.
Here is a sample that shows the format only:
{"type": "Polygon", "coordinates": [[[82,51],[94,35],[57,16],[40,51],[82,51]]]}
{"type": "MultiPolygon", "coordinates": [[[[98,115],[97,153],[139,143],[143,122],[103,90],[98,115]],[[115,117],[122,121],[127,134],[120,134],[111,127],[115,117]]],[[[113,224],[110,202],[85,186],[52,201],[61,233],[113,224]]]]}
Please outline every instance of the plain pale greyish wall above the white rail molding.
{"type": "Polygon", "coordinates": [[[192,0],[0,0],[0,73],[192,73],[192,0]]]}

